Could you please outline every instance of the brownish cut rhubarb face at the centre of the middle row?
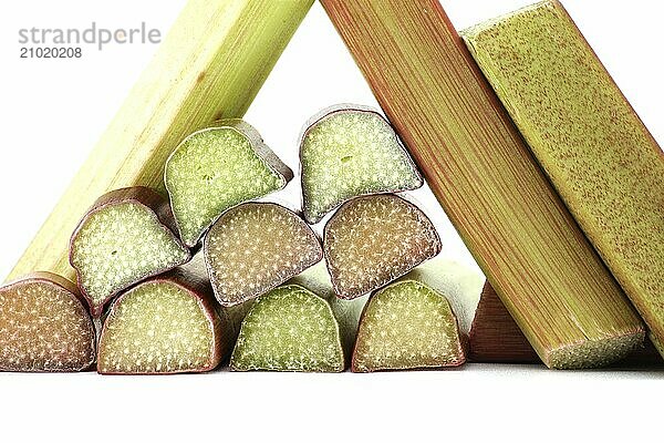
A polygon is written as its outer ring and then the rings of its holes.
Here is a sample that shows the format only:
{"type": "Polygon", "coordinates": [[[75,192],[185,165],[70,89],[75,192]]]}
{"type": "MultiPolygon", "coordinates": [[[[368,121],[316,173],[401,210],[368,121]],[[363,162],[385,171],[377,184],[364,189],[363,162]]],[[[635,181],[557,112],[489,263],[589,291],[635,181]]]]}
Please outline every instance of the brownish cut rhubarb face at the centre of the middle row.
{"type": "Polygon", "coordinates": [[[222,306],[256,298],[323,258],[309,225],[273,203],[246,203],[224,213],[205,237],[204,254],[222,306]]]}

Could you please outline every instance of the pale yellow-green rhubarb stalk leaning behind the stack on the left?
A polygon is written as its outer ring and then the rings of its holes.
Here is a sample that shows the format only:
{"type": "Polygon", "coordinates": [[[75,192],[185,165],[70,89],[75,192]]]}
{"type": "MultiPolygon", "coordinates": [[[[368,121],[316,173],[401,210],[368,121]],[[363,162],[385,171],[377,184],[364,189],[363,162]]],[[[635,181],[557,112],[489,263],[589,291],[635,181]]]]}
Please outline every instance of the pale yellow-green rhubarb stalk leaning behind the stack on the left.
{"type": "Polygon", "coordinates": [[[48,270],[73,281],[69,239],[85,208],[113,189],[163,190],[170,153],[201,126],[245,114],[312,3],[188,1],[9,279],[48,270]]]}

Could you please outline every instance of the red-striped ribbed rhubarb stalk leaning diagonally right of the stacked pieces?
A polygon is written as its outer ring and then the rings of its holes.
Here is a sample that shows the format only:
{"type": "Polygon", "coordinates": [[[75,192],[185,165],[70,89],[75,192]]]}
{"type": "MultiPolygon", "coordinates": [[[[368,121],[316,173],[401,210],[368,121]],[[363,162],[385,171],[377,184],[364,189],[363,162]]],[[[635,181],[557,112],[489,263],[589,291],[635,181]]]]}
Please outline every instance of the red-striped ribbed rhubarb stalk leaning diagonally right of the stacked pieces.
{"type": "Polygon", "coordinates": [[[644,334],[641,319],[440,3],[321,3],[446,215],[542,361],[567,367],[571,361],[558,358],[564,354],[561,349],[578,350],[568,353],[575,367],[622,358],[625,344],[644,334]]]}

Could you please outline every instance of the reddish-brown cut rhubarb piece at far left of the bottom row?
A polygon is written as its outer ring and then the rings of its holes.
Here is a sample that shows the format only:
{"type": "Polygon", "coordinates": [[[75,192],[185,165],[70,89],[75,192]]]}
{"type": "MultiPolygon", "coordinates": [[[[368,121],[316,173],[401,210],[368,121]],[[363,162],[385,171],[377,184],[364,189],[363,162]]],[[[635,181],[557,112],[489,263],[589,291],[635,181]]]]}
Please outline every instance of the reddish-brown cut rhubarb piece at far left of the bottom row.
{"type": "Polygon", "coordinates": [[[94,327],[75,285],[35,272],[0,288],[0,371],[74,372],[94,360],[94,327]]]}

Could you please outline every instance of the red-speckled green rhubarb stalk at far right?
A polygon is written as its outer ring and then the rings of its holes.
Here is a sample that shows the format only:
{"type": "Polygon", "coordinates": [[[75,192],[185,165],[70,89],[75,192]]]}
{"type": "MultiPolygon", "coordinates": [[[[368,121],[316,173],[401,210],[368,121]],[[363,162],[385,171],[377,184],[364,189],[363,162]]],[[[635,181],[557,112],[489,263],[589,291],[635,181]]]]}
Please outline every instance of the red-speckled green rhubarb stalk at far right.
{"type": "Polygon", "coordinates": [[[562,4],[464,32],[553,186],[664,340],[664,154],[562,4]]]}

